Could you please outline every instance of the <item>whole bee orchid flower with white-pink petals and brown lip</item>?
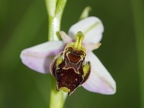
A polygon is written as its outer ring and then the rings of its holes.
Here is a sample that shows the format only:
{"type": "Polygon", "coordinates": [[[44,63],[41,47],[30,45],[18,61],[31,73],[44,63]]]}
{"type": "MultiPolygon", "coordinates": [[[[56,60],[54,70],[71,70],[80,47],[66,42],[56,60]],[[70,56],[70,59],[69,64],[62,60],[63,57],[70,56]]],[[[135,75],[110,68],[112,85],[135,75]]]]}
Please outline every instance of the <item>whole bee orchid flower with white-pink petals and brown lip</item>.
{"type": "Polygon", "coordinates": [[[87,17],[70,27],[68,35],[60,31],[62,41],[48,41],[21,52],[23,64],[40,73],[51,73],[56,89],[70,95],[83,86],[100,94],[114,94],[116,83],[92,52],[99,48],[103,24],[97,17],[87,17]]]}

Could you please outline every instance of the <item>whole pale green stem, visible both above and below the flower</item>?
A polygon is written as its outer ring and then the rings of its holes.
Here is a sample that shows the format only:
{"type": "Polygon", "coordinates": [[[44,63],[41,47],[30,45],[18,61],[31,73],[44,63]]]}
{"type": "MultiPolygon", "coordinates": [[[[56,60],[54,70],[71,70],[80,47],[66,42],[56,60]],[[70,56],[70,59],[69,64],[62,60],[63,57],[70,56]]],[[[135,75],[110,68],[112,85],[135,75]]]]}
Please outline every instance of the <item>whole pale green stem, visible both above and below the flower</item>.
{"type": "MultiPolygon", "coordinates": [[[[58,41],[57,32],[60,31],[61,18],[67,0],[46,0],[48,12],[48,40],[58,41]]],[[[56,90],[56,81],[51,76],[50,108],[63,108],[67,93],[56,90]]]]}

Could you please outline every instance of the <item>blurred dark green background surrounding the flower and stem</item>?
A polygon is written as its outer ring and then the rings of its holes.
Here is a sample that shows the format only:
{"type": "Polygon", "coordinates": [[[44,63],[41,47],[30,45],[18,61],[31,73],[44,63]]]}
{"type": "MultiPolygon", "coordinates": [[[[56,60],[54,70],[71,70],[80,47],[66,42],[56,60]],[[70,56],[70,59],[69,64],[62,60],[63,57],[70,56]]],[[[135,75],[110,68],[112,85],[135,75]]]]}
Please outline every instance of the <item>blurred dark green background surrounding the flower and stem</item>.
{"type": "MultiPolygon", "coordinates": [[[[86,6],[92,7],[91,16],[102,20],[102,46],[94,52],[115,79],[117,92],[107,96],[80,87],[67,98],[65,108],[141,107],[133,1],[68,0],[61,30],[67,32],[86,6]]],[[[48,108],[49,75],[27,68],[19,58],[24,48],[47,41],[47,18],[44,0],[0,0],[0,108],[48,108]]]]}

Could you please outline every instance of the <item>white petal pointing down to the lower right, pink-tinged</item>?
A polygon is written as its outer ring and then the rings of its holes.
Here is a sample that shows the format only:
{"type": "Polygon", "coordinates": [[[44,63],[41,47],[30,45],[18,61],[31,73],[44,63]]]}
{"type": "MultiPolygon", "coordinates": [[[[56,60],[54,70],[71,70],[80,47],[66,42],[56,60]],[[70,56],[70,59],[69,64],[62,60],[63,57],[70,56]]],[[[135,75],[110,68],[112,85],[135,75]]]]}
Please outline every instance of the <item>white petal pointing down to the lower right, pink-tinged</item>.
{"type": "Polygon", "coordinates": [[[100,60],[92,52],[88,53],[86,59],[91,62],[91,74],[82,86],[91,92],[114,94],[116,83],[100,60]]]}

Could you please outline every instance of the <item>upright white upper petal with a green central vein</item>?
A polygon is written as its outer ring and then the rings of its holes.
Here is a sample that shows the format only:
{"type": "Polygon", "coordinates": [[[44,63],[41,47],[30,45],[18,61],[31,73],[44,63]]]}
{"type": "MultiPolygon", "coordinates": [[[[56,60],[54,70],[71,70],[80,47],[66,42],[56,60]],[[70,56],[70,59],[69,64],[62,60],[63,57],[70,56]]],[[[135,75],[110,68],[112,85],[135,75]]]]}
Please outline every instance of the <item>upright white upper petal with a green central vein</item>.
{"type": "Polygon", "coordinates": [[[68,35],[74,38],[78,31],[82,31],[85,34],[84,42],[99,43],[102,38],[104,27],[99,18],[91,16],[74,24],[69,29],[68,35]]]}

